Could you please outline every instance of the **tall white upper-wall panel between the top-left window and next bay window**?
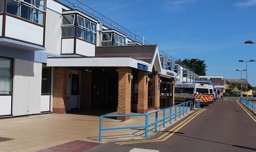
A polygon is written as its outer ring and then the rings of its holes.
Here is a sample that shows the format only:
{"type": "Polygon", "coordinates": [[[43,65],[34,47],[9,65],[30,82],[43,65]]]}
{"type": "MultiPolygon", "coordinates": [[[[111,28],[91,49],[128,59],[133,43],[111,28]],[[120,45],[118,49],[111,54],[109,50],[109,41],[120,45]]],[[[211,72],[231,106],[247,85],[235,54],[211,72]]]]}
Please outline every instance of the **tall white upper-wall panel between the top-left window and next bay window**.
{"type": "MultiPolygon", "coordinates": [[[[47,1],[48,3],[48,1],[47,1]]],[[[61,52],[61,14],[47,9],[45,27],[45,47],[50,53],[60,54],[61,52]]]]}

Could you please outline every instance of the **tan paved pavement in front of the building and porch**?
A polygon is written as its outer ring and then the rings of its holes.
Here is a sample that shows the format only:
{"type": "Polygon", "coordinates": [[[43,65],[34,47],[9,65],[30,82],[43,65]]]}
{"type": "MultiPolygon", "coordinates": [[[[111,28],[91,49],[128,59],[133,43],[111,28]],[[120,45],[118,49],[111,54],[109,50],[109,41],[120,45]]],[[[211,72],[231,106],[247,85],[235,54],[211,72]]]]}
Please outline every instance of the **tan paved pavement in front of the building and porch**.
{"type": "MultiPolygon", "coordinates": [[[[188,110],[188,114],[193,111],[188,110]]],[[[103,114],[116,111],[76,110],[67,114],[45,113],[22,117],[0,118],[0,152],[83,152],[107,142],[145,139],[145,130],[103,130],[99,141],[99,120],[103,114]]],[[[167,123],[166,127],[173,125],[167,123]]],[[[162,118],[161,113],[158,118],[162,118]]],[[[149,117],[149,123],[155,116],[149,117]]],[[[102,127],[137,126],[145,124],[145,116],[131,117],[126,121],[103,118],[102,127]]],[[[158,130],[164,130],[158,127],[158,130]]],[[[157,134],[149,128],[148,137],[157,134]]]]}

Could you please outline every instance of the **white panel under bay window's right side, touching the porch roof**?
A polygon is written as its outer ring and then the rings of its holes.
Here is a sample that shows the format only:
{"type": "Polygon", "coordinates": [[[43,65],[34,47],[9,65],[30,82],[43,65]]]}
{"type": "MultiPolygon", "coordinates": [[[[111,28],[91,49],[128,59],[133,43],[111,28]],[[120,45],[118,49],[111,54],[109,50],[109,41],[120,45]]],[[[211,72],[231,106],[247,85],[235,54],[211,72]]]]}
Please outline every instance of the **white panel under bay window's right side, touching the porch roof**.
{"type": "Polygon", "coordinates": [[[76,53],[88,57],[95,57],[95,44],[77,40],[76,53]]]}

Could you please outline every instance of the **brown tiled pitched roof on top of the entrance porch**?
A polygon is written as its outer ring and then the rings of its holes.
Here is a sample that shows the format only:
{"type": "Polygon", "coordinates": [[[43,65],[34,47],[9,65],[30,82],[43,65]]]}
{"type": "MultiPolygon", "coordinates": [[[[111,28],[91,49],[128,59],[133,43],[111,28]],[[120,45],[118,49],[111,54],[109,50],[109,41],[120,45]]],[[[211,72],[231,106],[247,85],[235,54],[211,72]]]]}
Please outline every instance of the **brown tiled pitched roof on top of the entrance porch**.
{"type": "Polygon", "coordinates": [[[95,57],[130,57],[152,63],[157,45],[96,47],[95,57]]]}

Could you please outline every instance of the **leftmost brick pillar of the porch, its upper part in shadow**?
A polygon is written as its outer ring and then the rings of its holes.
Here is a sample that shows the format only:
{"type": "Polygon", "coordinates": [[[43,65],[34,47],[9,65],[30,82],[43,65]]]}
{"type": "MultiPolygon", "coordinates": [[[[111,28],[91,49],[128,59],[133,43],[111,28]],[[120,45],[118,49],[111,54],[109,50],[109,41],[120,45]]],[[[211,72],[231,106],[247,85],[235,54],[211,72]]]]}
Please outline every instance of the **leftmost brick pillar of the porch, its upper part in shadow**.
{"type": "Polygon", "coordinates": [[[66,84],[67,68],[57,67],[54,70],[53,113],[66,113],[66,84]]]}

